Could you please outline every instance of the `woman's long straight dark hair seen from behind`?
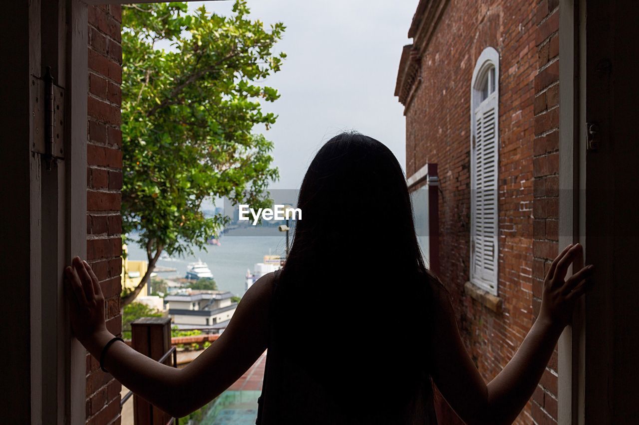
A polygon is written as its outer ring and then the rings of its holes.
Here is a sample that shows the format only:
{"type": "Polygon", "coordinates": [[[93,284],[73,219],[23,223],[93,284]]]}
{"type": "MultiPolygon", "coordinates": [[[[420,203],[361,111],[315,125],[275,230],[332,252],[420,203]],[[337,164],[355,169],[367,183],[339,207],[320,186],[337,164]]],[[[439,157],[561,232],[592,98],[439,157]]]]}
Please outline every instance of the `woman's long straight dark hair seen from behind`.
{"type": "Polygon", "coordinates": [[[377,140],[342,133],[312,160],[296,207],[275,298],[282,346],[346,403],[401,401],[428,377],[436,283],[401,166],[377,140]]]}

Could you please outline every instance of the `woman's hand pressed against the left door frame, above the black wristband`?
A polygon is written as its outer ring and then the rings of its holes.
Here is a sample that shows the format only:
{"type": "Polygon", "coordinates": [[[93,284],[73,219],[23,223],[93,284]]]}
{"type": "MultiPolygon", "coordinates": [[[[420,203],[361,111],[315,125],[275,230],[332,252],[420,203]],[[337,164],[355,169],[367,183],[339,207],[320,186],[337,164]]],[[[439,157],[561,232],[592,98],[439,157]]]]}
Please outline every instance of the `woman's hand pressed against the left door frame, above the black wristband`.
{"type": "Polygon", "coordinates": [[[91,266],[80,257],[65,269],[65,288],[73,335],[89,348],[96,336],[108,331],[102,288],[91,266]]]}

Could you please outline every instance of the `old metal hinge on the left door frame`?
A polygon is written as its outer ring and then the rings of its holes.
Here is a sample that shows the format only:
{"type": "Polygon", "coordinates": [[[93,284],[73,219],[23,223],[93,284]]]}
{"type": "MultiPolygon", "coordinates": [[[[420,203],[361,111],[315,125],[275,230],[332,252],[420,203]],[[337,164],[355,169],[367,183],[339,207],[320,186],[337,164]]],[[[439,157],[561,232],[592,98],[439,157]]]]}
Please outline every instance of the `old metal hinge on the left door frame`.
{"type": "Polygon", "coordinates": [[[51,68],[43,78],[31,76],[31,152],[41,154],[47,170],[64,158],[65,89],[54,84],[51,68]]]}

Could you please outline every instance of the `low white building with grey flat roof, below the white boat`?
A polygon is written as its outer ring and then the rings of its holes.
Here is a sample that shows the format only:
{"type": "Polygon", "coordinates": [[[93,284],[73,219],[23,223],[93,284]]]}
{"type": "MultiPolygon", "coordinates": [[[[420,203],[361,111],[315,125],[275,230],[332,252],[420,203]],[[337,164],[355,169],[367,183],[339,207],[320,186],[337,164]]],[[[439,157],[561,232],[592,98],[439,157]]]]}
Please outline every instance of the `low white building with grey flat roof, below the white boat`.
{"type": "Polygon", "coordinates": [[[227,291],[196,291],[189,294],[169,295],[169,316],[179,329],[201,329],[213,333],[224,331],[238,303],[231,301],[227,291]],[[226,322],[226,323],[225,323],[226,322]]]}

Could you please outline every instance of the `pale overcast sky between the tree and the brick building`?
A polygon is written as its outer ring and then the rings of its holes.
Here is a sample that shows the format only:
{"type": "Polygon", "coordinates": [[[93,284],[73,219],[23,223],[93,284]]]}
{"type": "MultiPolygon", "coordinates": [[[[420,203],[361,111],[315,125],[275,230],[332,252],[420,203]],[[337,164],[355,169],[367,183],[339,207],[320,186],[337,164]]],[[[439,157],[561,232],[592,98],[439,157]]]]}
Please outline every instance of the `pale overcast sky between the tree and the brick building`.
{"type": "MultiPolygon", "coordinates": [[[[266,84],[281,98],[264,134],[275,142],[280,180],[297,189],[321,144],[357,130],[386,144],[405,167],[403,106],[394,96],[397,66],[418,0],[249,0],[252,19],[286,26],[276,52],[288,57],[266,84]]],[[[226,15],[233,1],[192,2],[226,15]]]]}

